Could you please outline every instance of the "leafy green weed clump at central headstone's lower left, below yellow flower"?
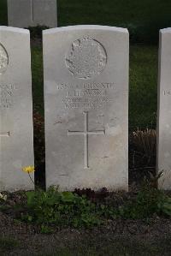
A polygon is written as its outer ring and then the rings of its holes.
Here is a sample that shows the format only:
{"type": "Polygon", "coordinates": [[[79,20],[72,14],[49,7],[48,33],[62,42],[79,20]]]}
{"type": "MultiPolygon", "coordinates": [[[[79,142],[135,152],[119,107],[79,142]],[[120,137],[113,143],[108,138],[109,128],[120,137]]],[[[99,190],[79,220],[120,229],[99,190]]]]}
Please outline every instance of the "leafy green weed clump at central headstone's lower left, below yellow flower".
{"type": "Polygon", "coordinates": [[[27,192],[27,214],[23,220],[42,225],[46,233],[47,226],[91,227],[102,223],[97,205],[85,196],[71,192],[58,192],[50,188],[47,192],[38,190],[27,192]]]}

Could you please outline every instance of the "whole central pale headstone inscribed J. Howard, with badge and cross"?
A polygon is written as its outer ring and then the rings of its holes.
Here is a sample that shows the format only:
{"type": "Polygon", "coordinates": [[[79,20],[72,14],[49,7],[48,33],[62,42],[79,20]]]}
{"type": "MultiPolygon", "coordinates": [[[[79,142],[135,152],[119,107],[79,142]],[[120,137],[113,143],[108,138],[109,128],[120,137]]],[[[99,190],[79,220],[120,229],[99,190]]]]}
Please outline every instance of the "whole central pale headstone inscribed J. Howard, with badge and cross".
{"type": "Polygon", "coordinates": [[[44,31],[46,185],[127,190],[128,32],[44,31]]]}

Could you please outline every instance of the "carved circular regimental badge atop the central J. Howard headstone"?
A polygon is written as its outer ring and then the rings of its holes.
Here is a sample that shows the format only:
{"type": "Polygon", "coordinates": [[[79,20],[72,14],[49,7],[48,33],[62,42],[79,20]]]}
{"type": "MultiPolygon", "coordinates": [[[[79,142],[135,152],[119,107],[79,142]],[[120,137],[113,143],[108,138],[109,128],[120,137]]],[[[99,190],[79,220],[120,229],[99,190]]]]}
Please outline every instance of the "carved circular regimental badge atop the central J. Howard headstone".
{"type": "Polygon", "coordinates": [[[105,68],[107,54],[103,45],[97,40],[84,36],[72,43],[65,57],[65,63],[74,77],[91,79],[105,68]]]}

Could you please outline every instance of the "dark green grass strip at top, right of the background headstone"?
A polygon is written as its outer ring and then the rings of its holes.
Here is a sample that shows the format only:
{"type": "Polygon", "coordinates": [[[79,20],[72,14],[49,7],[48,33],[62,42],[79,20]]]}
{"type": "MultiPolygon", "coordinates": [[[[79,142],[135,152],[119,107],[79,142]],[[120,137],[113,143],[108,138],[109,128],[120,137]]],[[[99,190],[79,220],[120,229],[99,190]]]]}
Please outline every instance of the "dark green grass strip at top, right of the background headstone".
{"type": "Polygon", "coordinates": [[[170,21],[168,0],[58,0],[59,24],[97,23],[114,26],[120,23],[144,24],[170,21]],[[152,11],[151,11],[152,9],[152,11]]]}

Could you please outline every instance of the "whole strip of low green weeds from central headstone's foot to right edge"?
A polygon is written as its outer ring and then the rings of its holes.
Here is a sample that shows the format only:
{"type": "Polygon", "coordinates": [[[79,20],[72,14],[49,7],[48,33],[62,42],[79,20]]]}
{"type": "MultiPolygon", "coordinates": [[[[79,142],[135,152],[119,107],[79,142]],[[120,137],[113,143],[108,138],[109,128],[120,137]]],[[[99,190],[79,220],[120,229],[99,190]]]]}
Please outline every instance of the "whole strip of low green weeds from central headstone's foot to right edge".
{"type": "Polygon", "coordinates": [[[85,195],[59,192],[56,188],[27,192],[27,205],[21,219],[36,223],[42,233],[54,227],[92,228],[112,219],[145,219],[165,215],[171,217],[171,198],[157,188],[144,185],[135,199],[114,207],[92,202],[85,195]]]}

